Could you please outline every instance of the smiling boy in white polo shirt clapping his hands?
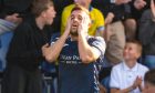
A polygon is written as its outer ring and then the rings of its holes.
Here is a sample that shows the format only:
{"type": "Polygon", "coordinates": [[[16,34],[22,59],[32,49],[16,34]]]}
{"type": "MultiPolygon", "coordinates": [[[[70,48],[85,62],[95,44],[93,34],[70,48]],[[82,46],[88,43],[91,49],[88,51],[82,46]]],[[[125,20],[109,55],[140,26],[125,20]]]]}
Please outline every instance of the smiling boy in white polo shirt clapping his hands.
{"type": "Polygon", "coordinates": [[[148,69],[140,63],[142,45],[137,41],[127,41],[124,48],[124,61],[112,69],[111,93],[141,93],[143,79],[148,69]]]}

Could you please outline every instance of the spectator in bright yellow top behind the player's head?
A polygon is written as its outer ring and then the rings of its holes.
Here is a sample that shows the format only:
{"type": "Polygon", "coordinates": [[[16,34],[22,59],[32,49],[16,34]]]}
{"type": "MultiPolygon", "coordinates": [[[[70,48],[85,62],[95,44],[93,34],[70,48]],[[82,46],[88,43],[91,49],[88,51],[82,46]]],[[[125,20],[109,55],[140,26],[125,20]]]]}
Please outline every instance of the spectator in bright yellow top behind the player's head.
{"type": "MultiPolygon", "coordinates": [[[[103,37],[104,17],[100,10],[91,7],[92,0],[74,0],[74,2],[80,4],[80,6],[83,6],[84,8],[89,9],[89,11],[90,11],[90,17],[91,17],[92,23],[91,23],[91,27],[89,29],[89,34],[103,37]]],[[[63,12],[62,12],[61,34],[64,32],[66,20],[71,14],[71,10],[75,7],[75,3],[65,7],[63,12]]]]}

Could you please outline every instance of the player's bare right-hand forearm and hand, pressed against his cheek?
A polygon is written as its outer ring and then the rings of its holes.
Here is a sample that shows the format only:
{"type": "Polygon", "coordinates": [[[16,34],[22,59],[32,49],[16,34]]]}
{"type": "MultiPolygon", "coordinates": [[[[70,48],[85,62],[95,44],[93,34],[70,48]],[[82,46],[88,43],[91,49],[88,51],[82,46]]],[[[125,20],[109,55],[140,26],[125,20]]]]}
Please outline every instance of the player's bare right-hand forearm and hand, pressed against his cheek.
{"type": "MultiPolygon", "coordinates": [[[[89,18],[83,18],[82,23],[79,25],[79,53],[83,63],[90,63],[99,59],[102,52],[87,43],[86,35],[89,30],[89,18]]],[[[100,44],[100,42],[99,42],[100,44]]],[[[101,45],[104,49],[104,44],[101,45]]]]}

